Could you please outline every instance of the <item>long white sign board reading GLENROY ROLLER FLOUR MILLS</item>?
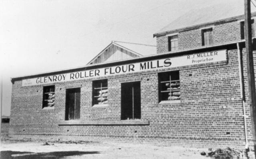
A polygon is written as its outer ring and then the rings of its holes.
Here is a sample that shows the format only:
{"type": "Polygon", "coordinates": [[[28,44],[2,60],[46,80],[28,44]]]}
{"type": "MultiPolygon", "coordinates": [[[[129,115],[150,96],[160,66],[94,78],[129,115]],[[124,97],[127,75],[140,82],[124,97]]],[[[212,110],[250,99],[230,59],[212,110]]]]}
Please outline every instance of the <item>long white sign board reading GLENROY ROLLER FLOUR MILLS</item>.
{"type": "Polygon", "coordinates": [[[205,53],[195,53],[166,59],[158,59],[140,63],[132,63],[127,65],[119,65],[113,67],[104,67],[100,69],[92,69],[78,71],[72,73],[64,73],[58,75],[50,75],[44,77],[36,77],[32,79],[22,80],[22,86],[32,86],[38,84],[50,84],[55,82],[65,82],[81,79],[90,79],[93,77],[105,77],[110,75],[124,75],[127,73],[136,73],[150,70],[161,70],[166,68],[182,67],[188,65],[198,65],[206,63],[215,63],[226,61],[226,50],[211,51],[205,53]]]}

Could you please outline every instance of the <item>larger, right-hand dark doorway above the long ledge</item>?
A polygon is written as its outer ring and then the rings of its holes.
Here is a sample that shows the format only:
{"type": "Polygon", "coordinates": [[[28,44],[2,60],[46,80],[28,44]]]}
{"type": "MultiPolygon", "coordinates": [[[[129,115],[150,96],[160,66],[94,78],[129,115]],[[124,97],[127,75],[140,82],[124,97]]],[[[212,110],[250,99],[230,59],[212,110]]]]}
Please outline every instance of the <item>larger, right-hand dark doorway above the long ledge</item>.
{"type": "Polygon", "coordinates": [[[140,119],[140,82],[121,84],[121,120],[140,119]]]}

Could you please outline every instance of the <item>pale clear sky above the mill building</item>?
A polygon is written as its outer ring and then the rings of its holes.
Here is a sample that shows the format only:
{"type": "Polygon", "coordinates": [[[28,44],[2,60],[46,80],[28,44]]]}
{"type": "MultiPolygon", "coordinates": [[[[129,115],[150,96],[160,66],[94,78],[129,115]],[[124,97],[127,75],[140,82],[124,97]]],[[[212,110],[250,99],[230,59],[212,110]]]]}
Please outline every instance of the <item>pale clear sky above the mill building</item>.
{"type": "Polygon", "coordinates": [[[179,16],[222,2],[0,0],[2,115],[10,115],[11,77],[84,66],[112,40],[156,45],[153,33],[179,16]]]}

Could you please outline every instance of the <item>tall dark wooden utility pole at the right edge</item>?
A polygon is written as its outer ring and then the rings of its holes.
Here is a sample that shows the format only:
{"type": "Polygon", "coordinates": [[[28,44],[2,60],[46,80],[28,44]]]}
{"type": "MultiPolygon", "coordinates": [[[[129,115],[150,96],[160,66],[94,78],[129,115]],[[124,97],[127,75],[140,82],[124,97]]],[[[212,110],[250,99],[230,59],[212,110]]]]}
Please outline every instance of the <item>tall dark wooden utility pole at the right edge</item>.
{"type": "Polygon", "coordinates": [[[252,122],[252,139],[254,145],[254,155],[256,157],[256,90],[255,90],[255,76],[254,63],[252,56],[252,20],[251,20],[251,5],[250,0],[244,0],[244,34],[246,46],[246,62],[247,62],[247,76],[250,99],[250,118],[252,122]]]}

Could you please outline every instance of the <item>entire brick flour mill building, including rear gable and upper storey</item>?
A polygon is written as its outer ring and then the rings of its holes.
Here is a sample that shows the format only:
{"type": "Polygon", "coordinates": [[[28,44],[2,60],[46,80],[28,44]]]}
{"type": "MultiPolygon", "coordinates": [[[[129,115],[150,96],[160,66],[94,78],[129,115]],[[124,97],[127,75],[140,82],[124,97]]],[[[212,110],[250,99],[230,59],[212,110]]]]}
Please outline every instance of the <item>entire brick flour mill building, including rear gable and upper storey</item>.
{"type": "Polygon", "coordinates": [[[185,15],[146,55],[112,42],[85,67],[12,78],[10,134],[251,146],[244,16],[226,16],[185,15]]]}

